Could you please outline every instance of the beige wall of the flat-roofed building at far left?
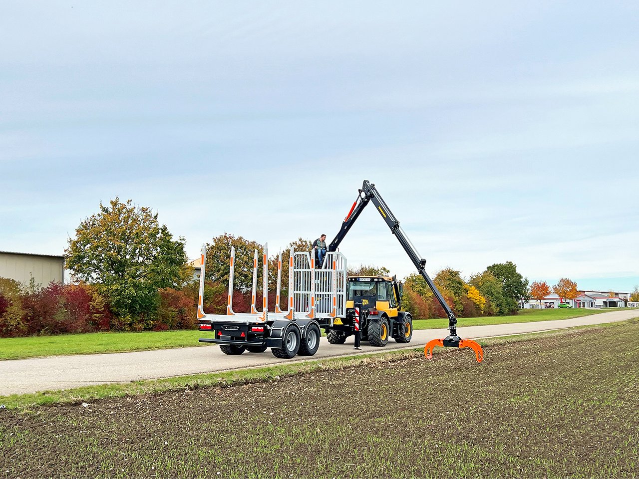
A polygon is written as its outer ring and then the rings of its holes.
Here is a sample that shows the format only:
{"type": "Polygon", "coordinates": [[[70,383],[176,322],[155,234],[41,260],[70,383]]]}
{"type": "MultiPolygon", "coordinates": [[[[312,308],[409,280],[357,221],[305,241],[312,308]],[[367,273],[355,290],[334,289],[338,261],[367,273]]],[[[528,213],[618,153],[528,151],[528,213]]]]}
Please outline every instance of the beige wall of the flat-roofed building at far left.
{"type": "Polygon", "coordinates": [[[62,283],[65,278],[65,259],[61,256],[0,252],[0,277],[46,286],[50,282],[62,283]]]}

